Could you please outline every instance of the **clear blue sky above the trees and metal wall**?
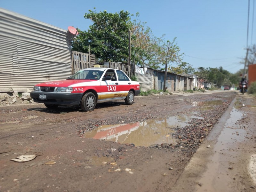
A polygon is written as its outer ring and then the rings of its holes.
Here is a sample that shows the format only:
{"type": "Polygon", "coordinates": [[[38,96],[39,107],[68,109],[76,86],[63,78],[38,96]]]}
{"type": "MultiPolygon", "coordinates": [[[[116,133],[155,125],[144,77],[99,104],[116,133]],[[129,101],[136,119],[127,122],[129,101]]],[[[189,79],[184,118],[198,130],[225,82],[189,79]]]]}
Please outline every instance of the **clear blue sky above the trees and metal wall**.
{"type": "MultiPolygon", "coordinates": [[[[253,1],[248,45],[256,44],[253,1]]],[[[84,13],[93,7],[96,12],[139,12],[140,20],[147,22],[155,36],[166,34],[166,41],[177,37],[177,45],[185,53],[183,61],[194,68],[222,66],[231,73],[244,68],[248,0],[0,0],[0,7],[63,29],[74,26],[81,30],[92,24],[84,13]]]]}

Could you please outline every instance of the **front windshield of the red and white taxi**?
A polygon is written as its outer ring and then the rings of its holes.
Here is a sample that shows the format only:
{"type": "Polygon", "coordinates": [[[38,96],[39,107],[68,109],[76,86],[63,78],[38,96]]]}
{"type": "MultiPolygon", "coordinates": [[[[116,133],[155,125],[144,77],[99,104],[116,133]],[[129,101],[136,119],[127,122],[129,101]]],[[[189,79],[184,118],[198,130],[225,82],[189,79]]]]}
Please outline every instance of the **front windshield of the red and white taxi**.
{"type": "Polygon", "coordinates": [[[68,79],[93,79],[99,80],[103,74],[104,69],[85,69],[77,71],[74,75],[68,77],[68,79]]]}

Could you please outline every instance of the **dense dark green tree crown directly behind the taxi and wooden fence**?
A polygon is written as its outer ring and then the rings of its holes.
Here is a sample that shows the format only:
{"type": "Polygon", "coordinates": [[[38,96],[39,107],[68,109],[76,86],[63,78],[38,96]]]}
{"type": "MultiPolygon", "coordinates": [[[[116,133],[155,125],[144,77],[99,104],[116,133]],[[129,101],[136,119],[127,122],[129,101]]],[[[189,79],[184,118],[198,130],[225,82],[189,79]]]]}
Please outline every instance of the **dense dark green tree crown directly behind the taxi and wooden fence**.
{"type": "Polygon", "coordinates": [[[120,11],[97,13],[89,10],[85,19],[93,22],[87,31],[78,30],[79,35],[72,43],[72,49],[80,52],[89,52],[102,61],[127,61],[128,59],[128,32],[131,28],[130,13],[120,11]]]}

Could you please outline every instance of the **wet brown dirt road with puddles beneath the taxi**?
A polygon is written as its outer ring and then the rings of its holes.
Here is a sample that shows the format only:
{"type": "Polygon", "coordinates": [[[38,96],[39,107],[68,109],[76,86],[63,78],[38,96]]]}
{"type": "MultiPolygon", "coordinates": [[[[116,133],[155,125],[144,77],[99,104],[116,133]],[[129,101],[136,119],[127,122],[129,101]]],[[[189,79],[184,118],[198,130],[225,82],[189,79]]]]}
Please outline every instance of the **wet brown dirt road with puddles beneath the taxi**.
{"type": "Polygon", "coordinates": [[[255,103],[217,91],[0,107],[0,191],[254,191],[255,103]]]}

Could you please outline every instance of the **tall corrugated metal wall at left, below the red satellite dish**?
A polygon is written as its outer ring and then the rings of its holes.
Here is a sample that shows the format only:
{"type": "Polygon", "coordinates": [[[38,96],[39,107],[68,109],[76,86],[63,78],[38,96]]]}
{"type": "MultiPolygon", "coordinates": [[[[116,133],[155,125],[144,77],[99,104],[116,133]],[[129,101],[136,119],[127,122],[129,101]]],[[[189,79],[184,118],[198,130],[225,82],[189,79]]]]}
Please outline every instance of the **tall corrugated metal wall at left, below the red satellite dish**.
{"type": "Polygon", "coordinates": [[[70,76],[71,37],[67,30],[0,8],[0,92],[26,92],[70,76]]]}

